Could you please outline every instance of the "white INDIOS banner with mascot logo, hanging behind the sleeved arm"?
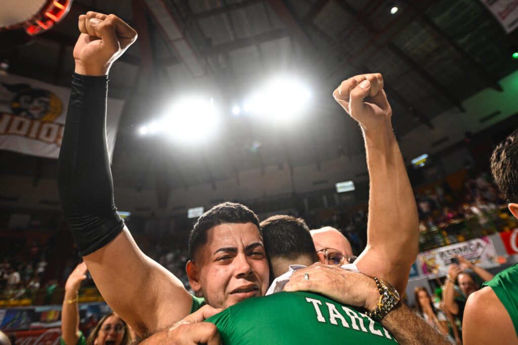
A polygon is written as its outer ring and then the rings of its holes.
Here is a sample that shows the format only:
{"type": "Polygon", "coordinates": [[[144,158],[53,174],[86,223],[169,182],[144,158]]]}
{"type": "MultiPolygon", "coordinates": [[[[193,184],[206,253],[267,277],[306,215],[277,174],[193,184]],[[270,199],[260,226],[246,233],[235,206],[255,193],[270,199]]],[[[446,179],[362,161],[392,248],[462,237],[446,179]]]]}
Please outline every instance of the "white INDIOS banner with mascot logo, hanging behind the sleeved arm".
{"type": "MultiPolygon", "coordinates": [[[[65,125],[70,88],[0,75],[0,149],[57,158],[65,125]]],[[[106,136],[110,161],[123,100],[108,99],[106,136]]]]}

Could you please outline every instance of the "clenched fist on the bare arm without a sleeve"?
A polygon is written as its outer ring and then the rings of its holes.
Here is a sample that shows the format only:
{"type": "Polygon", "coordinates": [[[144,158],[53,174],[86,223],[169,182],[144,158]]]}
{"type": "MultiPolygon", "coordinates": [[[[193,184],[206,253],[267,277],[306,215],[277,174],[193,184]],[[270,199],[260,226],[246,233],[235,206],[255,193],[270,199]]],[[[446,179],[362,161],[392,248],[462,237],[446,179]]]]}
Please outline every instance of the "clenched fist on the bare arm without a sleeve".
{"type": "Polygon", "coordinates": [[[333,97],[364,131],[390,125],[392,109],[380,73],[360,74],[343,81],[333,97]]]}

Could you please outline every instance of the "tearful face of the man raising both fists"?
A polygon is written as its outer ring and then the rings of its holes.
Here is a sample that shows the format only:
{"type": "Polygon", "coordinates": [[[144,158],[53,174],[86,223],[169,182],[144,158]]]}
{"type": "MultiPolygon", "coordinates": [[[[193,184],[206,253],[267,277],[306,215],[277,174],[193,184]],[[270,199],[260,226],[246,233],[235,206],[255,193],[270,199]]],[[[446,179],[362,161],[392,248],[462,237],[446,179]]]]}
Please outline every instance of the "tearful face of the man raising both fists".
{"type": "Polygon", "coordinates": [[[225,223],[210,229],[195,265],[204,297],[215,308],[263,296],[268,289],[263,239],[253,223],[225,223]]]}

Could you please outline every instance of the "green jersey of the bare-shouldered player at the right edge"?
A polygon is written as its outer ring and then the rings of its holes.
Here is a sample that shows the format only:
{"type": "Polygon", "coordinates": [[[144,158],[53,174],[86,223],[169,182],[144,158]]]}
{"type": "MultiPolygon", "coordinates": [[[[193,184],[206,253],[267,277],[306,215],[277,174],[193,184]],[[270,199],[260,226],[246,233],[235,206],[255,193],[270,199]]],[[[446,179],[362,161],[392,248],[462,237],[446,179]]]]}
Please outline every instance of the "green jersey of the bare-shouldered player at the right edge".
{"type": "Polygon", "coordinates": [[[483,286],[491,287],[506,308],[518,335],[518,264],[504,269],[483,286]]]}

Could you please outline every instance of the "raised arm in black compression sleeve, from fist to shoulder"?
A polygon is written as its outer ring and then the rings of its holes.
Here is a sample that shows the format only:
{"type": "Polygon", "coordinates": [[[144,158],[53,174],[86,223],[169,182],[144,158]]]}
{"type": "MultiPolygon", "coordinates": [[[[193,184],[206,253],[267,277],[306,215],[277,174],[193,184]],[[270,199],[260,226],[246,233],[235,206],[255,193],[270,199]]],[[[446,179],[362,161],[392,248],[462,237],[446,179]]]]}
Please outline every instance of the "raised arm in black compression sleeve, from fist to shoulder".
{"type": "Polygon", "coordinates": [[[61,205],[97,288],[143,335],[183,319],[192,297],[179,279],[140,251],[113,200],[106,144],[107,73],[137,34],[116,16],[95,12],[79,17],[79,29],[58,164],[61,205]]]}

